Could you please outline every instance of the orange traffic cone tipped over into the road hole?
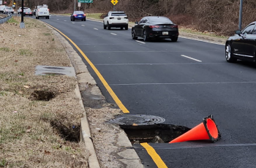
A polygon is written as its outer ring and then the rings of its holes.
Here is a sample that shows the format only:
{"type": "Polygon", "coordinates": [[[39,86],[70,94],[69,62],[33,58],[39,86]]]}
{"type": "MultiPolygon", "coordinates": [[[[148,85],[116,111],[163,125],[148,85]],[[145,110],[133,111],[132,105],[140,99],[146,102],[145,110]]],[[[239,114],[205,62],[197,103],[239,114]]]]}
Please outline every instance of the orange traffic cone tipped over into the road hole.
{"type": "Polygon", "coordinates": [[[221,135],[217,125],[215,124],[214,118],[212,115],[209,115],[206,118],[203,118],[203,123],[195,126],[193,129],[190,129],[176,139],[170,141],[169,143],[184,142],[190,140],[211,140],[211,142],[216,142],[219,140],[221,135]]]}

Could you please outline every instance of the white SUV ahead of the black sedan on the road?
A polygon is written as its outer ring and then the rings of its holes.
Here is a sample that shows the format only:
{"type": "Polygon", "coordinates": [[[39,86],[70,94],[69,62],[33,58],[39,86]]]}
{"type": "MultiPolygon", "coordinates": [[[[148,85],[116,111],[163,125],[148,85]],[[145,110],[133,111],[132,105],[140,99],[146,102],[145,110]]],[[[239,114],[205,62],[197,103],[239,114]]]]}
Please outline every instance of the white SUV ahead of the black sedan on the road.
{"type": "Polygon", "coordinates": [[[115,27],[128,30],[128,23],[129,20],[124,11],[111,11],[108,12],[103,20],[103,28],[106,29],[108,27],[108,30],[110,30],[111,27],[115,27]]]}

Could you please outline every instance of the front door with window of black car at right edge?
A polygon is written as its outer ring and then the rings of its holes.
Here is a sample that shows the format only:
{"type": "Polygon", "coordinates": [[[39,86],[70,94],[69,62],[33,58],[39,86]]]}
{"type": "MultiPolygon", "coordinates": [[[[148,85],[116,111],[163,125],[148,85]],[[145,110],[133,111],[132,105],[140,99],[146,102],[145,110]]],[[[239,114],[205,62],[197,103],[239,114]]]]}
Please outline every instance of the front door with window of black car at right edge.
{"type": "Polygon", "coordinates": [[[233,54],[241,59],[250,60],[252,59],[253,46],[250,45],[250,34],[255,28],[255,23],[249,24],[241,31],[238,39],[236,39],[233,44],[233,54]]]}

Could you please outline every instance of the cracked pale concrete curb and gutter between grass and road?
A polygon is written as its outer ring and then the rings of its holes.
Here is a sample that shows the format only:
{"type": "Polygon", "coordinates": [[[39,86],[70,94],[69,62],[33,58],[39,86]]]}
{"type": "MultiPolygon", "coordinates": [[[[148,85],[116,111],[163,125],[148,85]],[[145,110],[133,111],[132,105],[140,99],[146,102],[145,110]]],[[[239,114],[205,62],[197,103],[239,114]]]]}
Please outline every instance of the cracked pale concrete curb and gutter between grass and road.
{"type": "MultiPolygon", "coordinates": [[[[50,27],[49,27],[50,28],[50,27]]],[[[83,63],[82,58],[78,55],[78,53],[73,49],[73,47],[67,42],[64,37],[62,37],[57,31],[53,28],[50,28],[53,31],[53,34],[59,38],[61,45],[64,46],[66,50],[67,56],[70,60],[71,65],[75,69],[77,81],[80,85],[83,84],[91,84],[91,94],[103,96],[99,87],[97,86],[96,81],[89,73],[86,64],[83,63]]],[[[94,148],[94,144],[91,139],[91,131],[89,126],[89,121],[86,115],[86,110],[83,106],[83,100],[81,98],[80,90],[78,83],[75,88],[75,95],[79,99],[80,106],[83,108],[84,118],[80,119],[80,140],[82,140],[86,145],[86,150],[89,150],[90,156],[88,159],[89,167],[90,168],[100,168],[99,160],[97,158],[97,153],[94,148]]],[[[131,142],[129,141],[127,135],[125,134],[124,130],[118,128],[118,126],[114,126],[113,128],[119,130],[119,133],[116,135],[116,145],[115,147],[118,148],[118,161],[125,165],[127,168],[143,168],[143,164],[140,161],[138,154],[132,147],[131,142]]]]}

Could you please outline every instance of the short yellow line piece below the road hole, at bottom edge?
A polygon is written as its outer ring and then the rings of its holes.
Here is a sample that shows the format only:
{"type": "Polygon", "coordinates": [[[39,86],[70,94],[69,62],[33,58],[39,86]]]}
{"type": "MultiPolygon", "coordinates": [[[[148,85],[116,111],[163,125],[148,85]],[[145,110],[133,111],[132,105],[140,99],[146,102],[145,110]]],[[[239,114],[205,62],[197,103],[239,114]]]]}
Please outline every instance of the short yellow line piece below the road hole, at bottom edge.
{"type": "Polygon", "coordinates": [[[167,168],[165,162],[162,161],[160,156],[157,154],[156,150],[154,150],[154,148],[151,147],[151,145],[148,145],[148,143],[140,143],[140,145],[142,145],[147,150],[148,155],[151,156],[151,158],[153,159],[154,163],[157,164],[157,167],[159,167],[159,168],[167,168]]]}

